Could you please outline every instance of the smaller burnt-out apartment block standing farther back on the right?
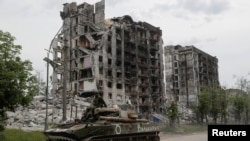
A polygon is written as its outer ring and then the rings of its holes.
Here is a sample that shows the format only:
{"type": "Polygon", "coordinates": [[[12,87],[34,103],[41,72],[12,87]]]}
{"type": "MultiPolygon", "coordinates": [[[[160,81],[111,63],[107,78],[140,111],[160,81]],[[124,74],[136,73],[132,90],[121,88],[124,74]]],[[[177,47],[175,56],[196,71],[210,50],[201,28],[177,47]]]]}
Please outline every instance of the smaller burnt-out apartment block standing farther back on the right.
{"type": "Polygon", "coordinates": [[[194,46],[166,46],[166,95],[182,106],[197,104],[203,86],[219,85],[218,59],[194,46]]]}

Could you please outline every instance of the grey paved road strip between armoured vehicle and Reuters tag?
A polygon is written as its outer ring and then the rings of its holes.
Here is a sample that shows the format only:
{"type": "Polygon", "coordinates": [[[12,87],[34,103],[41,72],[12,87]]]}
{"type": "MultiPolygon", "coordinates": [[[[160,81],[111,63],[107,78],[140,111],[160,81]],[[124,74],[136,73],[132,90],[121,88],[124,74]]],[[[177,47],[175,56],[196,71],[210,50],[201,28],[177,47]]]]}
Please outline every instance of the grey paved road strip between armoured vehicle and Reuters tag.
{"type": "Polygon", "coordinates": [[[207,141],[207,132],[185,135],[160,134],[161,141],[207,141]]]}

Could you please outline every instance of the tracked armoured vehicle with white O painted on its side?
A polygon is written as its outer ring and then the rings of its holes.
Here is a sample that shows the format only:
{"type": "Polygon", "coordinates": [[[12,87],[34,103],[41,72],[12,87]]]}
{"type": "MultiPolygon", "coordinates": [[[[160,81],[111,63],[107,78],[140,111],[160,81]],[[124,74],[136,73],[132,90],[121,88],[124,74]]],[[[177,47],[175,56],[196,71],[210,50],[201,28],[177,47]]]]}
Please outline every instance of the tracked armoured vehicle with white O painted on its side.
{"type": "Polygon", "coordinates": [[[90,118],[57,125],[44,134],[47,141],[159,141],[159,130],[159,124],[138,118],[124,105],[95,108],[90,118]]]}

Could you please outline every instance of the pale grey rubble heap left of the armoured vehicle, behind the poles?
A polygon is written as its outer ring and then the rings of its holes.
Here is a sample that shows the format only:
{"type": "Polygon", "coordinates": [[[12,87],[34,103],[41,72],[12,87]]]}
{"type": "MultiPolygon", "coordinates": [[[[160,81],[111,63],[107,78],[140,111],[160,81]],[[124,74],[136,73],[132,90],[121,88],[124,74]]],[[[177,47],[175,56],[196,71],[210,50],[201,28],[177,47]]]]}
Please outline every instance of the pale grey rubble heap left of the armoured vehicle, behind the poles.
{"type": "MultiPolygon", "coordinates": [[[[90,105],[89,99],[74,97],[67,99],[67,121],[81,118],[83,110],[90,105]]],[[[48,97],[48,124],[62,123],[62,99],[48,97]]],[[[20,106],[15,112],[7,111],[7,128],[43,130],[46,119],[46,97],[35,96],[28,107],[20,106]]]]}

